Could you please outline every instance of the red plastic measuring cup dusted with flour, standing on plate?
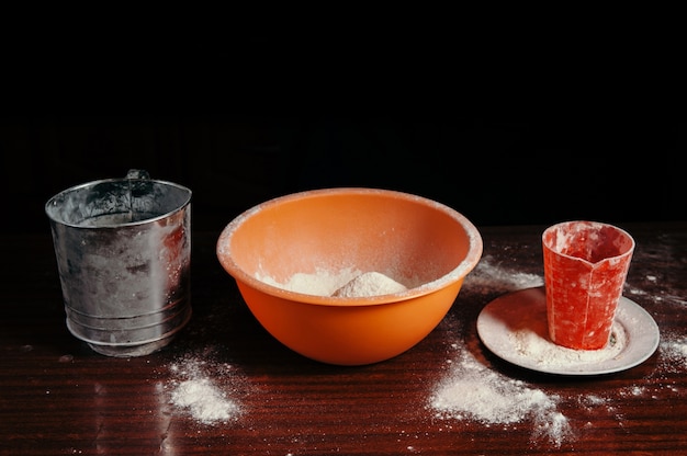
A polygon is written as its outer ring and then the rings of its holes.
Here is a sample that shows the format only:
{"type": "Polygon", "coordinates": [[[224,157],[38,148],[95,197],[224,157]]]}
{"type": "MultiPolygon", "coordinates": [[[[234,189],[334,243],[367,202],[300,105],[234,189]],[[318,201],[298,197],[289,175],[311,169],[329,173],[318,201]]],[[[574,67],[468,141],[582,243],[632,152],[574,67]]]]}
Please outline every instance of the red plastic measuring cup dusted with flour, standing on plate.
{"type": "Polygon", "coordinates": [[[610,338],[634,239],[597,221],[565,221],[542,235],[549,335],[575,350],[599,350],[610,338]]]}

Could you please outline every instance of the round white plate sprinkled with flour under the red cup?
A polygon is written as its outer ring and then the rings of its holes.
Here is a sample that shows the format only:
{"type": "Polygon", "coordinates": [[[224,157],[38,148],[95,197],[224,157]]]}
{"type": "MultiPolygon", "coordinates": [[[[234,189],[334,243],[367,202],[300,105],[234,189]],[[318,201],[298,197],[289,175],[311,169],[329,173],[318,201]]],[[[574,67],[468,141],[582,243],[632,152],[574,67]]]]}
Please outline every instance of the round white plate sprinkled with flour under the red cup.
{"type": "Polygon", "coordinates": [[[544,287],[509,293],[486,305],[477,317],[480,339],[494,354],[520,367],[548,374],[599,375],[634,367],[657,349],[658,326],[634,301],[620,298],[609,344],[573,350],[549,338],[544,287]]]}

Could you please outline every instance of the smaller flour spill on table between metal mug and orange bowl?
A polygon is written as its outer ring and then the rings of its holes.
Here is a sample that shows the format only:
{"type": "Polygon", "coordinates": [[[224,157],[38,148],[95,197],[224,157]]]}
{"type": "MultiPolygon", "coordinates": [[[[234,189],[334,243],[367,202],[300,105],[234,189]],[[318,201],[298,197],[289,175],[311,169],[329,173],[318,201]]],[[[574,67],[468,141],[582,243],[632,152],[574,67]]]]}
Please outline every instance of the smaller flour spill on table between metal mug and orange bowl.
{"type": "Polygon", "coordinates": [[[240,407],[230,397],[230,391],[212,378],[213,375],[230,378],[233,366],[188,356],[172,363],[170,372],[176,377],[171,381],[170,403],[189,413],[195,421],[212,425],[235,420],[240,414],[240,407]]]}

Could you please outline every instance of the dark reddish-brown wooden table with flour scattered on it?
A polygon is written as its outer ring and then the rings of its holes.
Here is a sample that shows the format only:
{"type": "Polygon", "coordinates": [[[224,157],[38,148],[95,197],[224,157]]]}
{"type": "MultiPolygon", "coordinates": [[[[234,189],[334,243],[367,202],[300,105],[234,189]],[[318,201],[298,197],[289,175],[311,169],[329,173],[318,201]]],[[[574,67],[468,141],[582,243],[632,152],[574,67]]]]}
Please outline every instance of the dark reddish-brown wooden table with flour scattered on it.
{"type": "Polygon", "coordinates": [[[131,358],[99,355],[67,331],[49,232],[3,236],[0,454],[687,454],[687,224],[622,227],[637,240],[624,296],[653,317],[661,343],[642,364],[596,376],[518,367],[476,332],[485,305],[541,280],[541,226],[480,228],[480,270],[439,327],[359,367],[274,341],[216,261],[218,230],[194,233],[191,322],[162,351],[131,358]],[[462,413],[438,410],[441,385],[455,381],[466,399],[488,386],[461,381],[474,374],[465,360],[506,395],[540,394],[564,426],[527,409],[513,422],[511,408],[480,420],[471,412],[493,408],[488,396],[462,413]],[[191,378],[238,413],[204,423],[180,407],[173,395],[191,378]]]}

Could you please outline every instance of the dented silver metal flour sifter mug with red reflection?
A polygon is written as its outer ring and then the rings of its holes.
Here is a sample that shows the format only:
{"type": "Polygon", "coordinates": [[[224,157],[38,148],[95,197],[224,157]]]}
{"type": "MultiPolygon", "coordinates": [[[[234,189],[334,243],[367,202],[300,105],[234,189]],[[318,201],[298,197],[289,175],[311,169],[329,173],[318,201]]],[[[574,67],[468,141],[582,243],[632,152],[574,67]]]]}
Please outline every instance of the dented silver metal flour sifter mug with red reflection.
{"type": "Polygon", "coordinates": [[[191,191],[132,170],[45,205],[67,328],[95,352],[142,356],[191,317],[191,191]]]}

